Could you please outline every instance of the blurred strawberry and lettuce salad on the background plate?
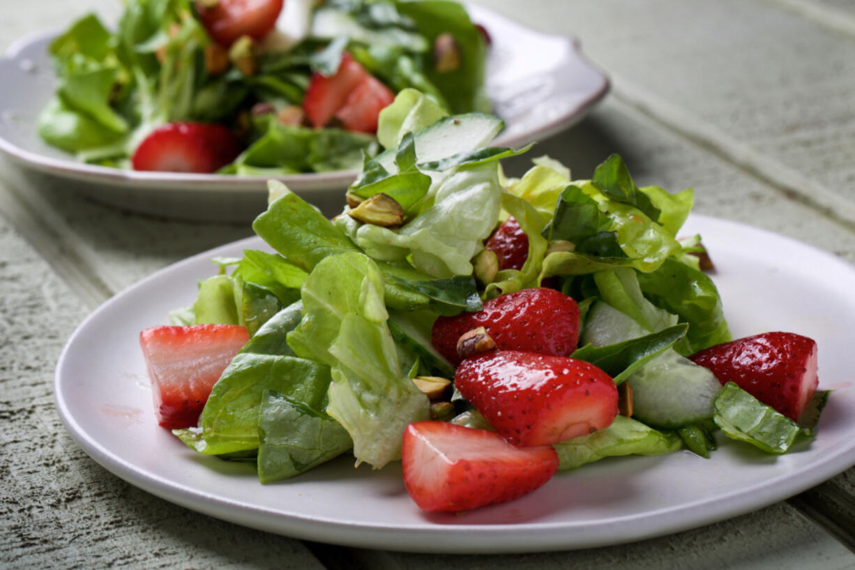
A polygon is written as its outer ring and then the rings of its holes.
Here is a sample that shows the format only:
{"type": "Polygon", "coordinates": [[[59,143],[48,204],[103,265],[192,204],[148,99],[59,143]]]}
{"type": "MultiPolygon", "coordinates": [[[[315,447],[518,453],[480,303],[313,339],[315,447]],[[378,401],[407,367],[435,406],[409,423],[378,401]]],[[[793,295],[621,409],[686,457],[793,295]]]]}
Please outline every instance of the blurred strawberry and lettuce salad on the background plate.
{"type": "Polygon", "coordinates": [[[38,134],[121,169],[358,169],[406,88],[490,110],[487,38],[451,0],[128,0],[115,30],[85,15],[50,44],[38,134]]]}

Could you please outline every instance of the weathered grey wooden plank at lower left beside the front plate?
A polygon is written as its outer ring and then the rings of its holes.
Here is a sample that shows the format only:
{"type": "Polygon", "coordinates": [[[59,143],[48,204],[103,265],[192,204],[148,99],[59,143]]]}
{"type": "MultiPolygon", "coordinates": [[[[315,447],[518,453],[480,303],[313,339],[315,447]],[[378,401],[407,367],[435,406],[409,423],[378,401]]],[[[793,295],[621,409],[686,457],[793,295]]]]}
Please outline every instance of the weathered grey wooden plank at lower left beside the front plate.
{"type": "Polygon", "coordinates": [[[298,541],[193,513],[97,466],[52,390],[88,311],[2,217],[0,283],[0,567],[321,568],[298,541]]]}

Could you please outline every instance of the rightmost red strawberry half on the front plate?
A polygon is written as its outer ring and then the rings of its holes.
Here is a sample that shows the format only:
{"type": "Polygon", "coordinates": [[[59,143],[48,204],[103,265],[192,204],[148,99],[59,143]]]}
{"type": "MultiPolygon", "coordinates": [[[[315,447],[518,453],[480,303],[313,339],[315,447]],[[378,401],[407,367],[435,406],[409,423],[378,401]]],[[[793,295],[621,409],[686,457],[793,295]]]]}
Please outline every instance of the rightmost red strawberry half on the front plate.
{"type": "Polygon", "coordinates": [[[817,342],[788,332],[746,336],[694,353],[723,384],[741,389],[793,421],[817,390],[817,342]]]}

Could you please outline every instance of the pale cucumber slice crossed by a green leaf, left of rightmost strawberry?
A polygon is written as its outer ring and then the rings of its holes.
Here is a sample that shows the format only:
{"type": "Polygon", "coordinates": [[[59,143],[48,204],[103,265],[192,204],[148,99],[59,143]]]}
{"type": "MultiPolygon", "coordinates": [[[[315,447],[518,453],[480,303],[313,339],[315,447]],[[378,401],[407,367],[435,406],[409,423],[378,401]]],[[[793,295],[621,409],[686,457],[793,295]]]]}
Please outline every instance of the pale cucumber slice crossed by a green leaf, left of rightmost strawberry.
{"type": "MultiPolygon", "coordinates": [[[[582,345],[607,346],[646,335],[633,318],[598,301],[588,312],[582,345]]],[[[722,389],[713,373],[669,348],[627,382],[633,388],[633,416],[646,424],[678,428],[712,419],[712,402],[722,389]]]]}

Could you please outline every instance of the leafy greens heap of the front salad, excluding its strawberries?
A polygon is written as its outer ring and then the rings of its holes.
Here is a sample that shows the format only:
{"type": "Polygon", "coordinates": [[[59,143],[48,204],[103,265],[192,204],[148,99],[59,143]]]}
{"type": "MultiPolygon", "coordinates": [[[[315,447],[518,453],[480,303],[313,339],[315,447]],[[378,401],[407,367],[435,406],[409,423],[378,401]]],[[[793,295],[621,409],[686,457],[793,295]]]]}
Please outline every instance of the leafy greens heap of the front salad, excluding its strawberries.
{"type": "Polygon", "coordinates": [[[413,382],[454,376],[432,345],[433,323],[547,284],[578,302],[572,358],[635,392],[631,417],[555,444],[559,469],[681,448],[706,457],[720,430],[773,454],[810,435],[686,358],[731,340],[699,268],[699,236],[678,238],[693,191],[638,187],[616,155],[589,180],[548,157],[507,178],[499,160],[528,147],[489,146],[502,127],[405,89],[382,111],[385,150],[366,157],[339,217],[271,181],[253,229],[275,252],[216,259],[219,274],[172,314],[175,325],[236,324],[250,335],[198,425],[175,435],[201,454],[256,463],[266,483],[339,454],[385,466],[421,420],[491,429],[459,394],[432,403],[413,382]],[[485,240],[510,217],[528,252],[520,268],[497,270],[484,262],[485,240]]]}

